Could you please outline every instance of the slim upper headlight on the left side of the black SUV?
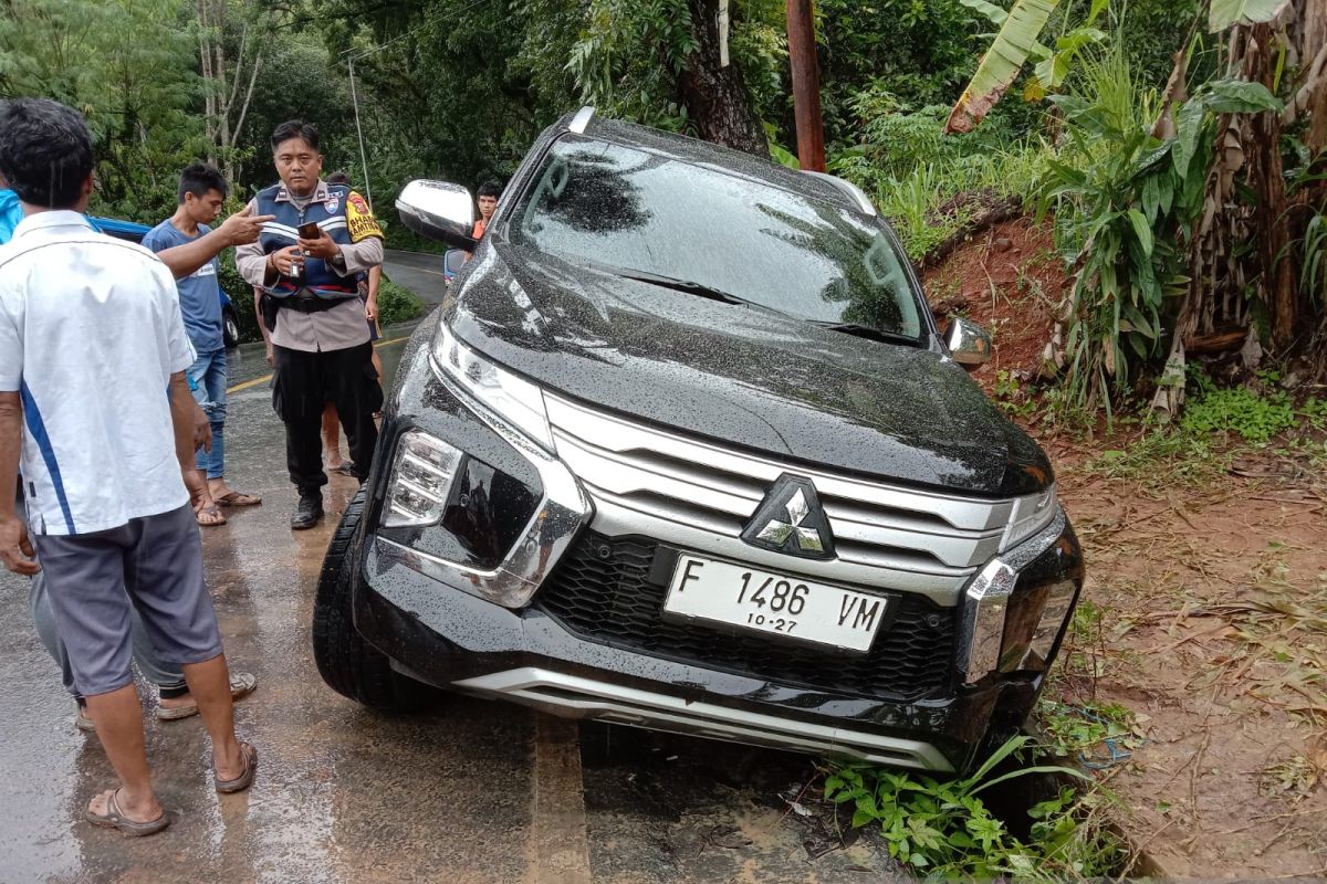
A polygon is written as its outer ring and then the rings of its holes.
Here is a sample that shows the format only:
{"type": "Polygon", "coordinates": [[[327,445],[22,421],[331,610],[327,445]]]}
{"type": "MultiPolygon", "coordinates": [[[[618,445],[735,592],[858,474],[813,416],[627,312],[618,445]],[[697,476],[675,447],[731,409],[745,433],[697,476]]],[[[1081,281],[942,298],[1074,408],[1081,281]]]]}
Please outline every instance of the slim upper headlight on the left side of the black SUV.
{"type": "Polygon", "coordinates": [[[456,341],[446,322],[438,323],[438,331],[433,337],[433,360],[447,380],[459,386],[495,416],[518,428],[544,451],[555,451],[553,433],[544,411],[544,394],[539,387],[456,341]]]}

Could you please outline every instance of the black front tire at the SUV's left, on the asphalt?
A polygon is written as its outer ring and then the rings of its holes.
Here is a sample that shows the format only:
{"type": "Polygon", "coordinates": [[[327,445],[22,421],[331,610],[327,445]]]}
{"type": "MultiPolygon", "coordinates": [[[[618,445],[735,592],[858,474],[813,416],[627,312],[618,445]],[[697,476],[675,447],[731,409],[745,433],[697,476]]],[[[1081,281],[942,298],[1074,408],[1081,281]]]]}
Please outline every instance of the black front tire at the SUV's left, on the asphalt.
{"type": "Polygon", "coordinates": [[[431,692],[423,684],[391,668],[382,653],[356,631],[352,592],[356,579],[350,549],[364,517],[365,490],[350,500],[341,517],[313,600],[313,660],[318,673],[337,693],[376,709],[417,710],[431,692]]]}

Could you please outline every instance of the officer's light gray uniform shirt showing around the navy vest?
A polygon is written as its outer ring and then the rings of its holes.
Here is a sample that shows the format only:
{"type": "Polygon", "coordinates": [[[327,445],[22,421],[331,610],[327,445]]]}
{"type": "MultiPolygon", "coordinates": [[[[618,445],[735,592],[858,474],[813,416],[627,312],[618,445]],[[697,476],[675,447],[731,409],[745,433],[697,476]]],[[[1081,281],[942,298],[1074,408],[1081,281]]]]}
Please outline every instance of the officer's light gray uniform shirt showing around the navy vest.
{"type": "MultiPolygon", "coordinates": [[[[289,200],[296,208],[303,209],[311,203],[325,203],[329,196],[328,186],[318,179],[312,196],[300,197],[283,190],[276,199],[277,201],[289,200]]],[[[358,193],[352,193],[352,196],[362,199],[358,193]]],[[[249,209],[259,215],[257,200],[249,201],[249,209]]],[[[362,211],[368,212],[368,205],[362,207],[362,211]]],[[[378,236],[365,236],[358,243],[348,243],[337,248],[341,250],[341,266],[337,266],[337,270],[344,276],[354,276],[382,264],[382,240],[378,236]]],[[[265,288],[267,252],[263,250],[261,243],[238,247],[235,249],[235,266],[245,282],[265,288]]],[[[346,298],[320,313],[277,310],[276,327],[268,329],[268,331],[273,345],[305,353],[345,350],[369,341],[369,326],[364,321],[364,301],[360,298],[346,298]]]]}

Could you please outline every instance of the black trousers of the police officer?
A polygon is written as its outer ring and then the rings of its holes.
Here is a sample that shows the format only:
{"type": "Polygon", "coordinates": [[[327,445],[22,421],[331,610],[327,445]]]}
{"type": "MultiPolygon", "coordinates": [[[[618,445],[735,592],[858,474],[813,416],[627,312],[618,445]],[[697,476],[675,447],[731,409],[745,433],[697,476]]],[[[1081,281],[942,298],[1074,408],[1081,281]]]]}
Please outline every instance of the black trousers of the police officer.
{"type": "Polygon", "coordinates": [[[373,367],[373,345],[308,353],[272,346],[272,407],[285,423],[285,461],[300,494],[326,485],[322,472],[322,408],[336,406],[350,445],[354,476],[364,481],[378,444],[373,415],[382,410],[382,386],[373,367]]]}

